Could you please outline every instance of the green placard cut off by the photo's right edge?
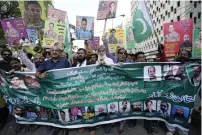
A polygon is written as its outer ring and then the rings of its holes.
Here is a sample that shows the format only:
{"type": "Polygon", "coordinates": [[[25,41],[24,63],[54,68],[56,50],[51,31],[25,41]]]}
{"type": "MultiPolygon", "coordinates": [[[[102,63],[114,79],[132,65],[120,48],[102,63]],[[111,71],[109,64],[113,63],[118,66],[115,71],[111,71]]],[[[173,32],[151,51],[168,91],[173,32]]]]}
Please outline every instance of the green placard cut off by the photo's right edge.
{"type": "Polygon", "coordinates": [[[194,30],[193,58],[201,58],[201,29],[194,30]]]}

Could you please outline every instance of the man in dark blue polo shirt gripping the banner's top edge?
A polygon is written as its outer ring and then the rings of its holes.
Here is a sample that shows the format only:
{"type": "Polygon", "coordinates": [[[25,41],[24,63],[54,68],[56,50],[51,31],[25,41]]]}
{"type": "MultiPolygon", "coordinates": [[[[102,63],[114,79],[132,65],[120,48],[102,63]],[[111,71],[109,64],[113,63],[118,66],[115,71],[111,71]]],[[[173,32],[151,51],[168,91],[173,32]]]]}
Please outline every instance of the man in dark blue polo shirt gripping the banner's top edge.
{"type": "MultiPolygon", "coordinates": [[[[58,46],[53,46],[51,48],[51,59],[43,62],[39,68],[37,69],[36,76],[44,79],[46,78],[47,74],[46,71],[53,70],[53,69],[62,69],[62,68],[70,68],[70,63],[68,60],[61,58],[62,51],[58,46]]],[[[52,127],[48,129],[48,133],[50,133],[52,127]]],[[[53,132],[53,135],[57,135],[60,132],[59,128],[56,128],[53,132]]],[[[63,135],[68,135],[68,129],[63,130],[63,135]]]]}

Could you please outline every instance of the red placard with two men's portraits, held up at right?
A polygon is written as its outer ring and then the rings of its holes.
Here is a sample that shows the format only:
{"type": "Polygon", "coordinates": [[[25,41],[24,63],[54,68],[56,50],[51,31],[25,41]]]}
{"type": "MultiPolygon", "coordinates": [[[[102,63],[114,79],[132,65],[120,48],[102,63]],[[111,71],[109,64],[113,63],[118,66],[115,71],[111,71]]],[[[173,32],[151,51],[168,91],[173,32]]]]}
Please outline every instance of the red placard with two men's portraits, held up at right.
{"type": "Polygon", "coordinates": [[[192,19],[165,23],[163,26],[166,56],[175,56],[181,49],[192,51],[192,19]]]}

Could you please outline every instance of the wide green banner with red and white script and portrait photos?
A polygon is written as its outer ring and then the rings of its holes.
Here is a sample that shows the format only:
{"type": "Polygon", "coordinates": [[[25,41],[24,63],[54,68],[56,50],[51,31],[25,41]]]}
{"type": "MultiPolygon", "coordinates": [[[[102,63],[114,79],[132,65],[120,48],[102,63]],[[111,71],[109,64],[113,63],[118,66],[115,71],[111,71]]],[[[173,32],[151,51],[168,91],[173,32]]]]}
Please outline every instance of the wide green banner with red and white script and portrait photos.
{"type": "Polygon", "coordinates": [[[46,79],[1,72],[0,86],[21,124],[78,128],[149,119],[186,130],[199,68],[196,63],[92,65],[49,71],[46,79]]]}

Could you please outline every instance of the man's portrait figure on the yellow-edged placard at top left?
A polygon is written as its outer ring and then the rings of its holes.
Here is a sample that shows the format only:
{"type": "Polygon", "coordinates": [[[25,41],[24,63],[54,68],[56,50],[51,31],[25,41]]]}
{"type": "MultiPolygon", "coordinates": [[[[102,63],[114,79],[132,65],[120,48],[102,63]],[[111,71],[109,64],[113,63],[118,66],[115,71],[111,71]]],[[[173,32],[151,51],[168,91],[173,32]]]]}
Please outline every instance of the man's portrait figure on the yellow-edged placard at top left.
{"type": "Polygon", "coordinates": [[[42,10],[44,10],[38,1],[24,1],[24,22],[27,27],[43,27],[42,10]]]}

